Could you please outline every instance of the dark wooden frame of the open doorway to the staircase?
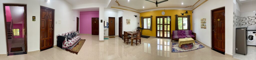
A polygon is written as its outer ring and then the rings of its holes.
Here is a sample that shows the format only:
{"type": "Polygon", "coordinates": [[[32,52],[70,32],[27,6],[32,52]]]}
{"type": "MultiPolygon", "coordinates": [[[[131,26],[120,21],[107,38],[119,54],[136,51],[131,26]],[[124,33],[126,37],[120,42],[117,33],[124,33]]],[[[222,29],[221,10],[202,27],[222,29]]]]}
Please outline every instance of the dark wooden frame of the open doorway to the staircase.
{"type": "Polygon", "coordinates": [[[6,37],[6,47],[7,47],[7,55],[9,51],[8,47],[8,34],[7,34],[7,24],[6,24],[6,12],[5,12],[5,6],[22,6],[24,7],[24,46],[25,46],[25,54],[27,54],[27,5],[20,5],[20,4],[3,4],[4,7],[4,24],[5,24],[5,37],[6,37]]]}

